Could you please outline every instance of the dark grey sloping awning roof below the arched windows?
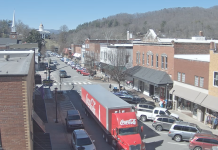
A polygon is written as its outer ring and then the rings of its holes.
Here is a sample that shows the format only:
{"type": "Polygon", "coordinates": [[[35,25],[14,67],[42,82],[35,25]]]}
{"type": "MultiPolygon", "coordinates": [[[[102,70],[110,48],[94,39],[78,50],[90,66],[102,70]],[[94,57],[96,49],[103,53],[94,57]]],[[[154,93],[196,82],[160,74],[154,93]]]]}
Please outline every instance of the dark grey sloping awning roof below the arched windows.
{"type": "Polygon", "coordinates": [[[149,82],[154,85],[173,84],[171,77],[164,71],[159,71],[142,66],[134,66],[126,71],[127,75],[130,75],[145,82],[149,82]]]}

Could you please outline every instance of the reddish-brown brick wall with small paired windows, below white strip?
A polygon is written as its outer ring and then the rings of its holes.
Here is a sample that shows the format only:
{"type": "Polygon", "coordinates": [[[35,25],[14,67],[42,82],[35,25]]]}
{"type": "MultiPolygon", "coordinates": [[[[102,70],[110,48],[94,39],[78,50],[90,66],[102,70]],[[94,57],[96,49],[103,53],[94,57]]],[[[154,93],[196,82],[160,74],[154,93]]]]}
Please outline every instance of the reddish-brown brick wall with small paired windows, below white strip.
{"type": "MultiPolygon", "coordinates": [[[[198,76],[198,87],[200,87],[200,77],[204,78],[203,89],[208,89],[209,62],[194,61],[186,59],[174,59],[174,80],[178,81],[178,72],[181,73],[180,82],[182,82],[182,73],[185,73],[186,84],[195,86],[195,76],[198,76]]],[[[201,87],[200,87],[201,88],[201,87]]]]}

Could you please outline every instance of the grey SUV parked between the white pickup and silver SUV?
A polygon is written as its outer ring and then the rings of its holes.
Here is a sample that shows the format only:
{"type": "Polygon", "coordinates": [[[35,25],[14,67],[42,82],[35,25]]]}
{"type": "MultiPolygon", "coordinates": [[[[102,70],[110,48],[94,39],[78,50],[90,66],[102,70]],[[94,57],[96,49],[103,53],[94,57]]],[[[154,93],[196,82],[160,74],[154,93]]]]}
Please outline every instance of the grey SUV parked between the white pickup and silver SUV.
{"type": "Polygon", "coordinates": [[[154,119],[152,126],[157,131],[170,130],[172,124],[175,123],[176,121],[182,121],[182,120],[175,118],[173,116],[158,115],[154,119]]]}

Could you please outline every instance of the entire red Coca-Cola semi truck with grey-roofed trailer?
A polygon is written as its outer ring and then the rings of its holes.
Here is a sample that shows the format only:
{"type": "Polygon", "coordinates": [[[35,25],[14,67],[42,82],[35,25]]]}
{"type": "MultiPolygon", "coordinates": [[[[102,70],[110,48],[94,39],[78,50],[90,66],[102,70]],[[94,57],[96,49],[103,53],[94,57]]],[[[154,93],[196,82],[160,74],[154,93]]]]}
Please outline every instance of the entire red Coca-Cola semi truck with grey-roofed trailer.
{"type": "Polygon", "coordinates": [[[102,128],[102,136],[116,150],[145,150],[132,105],[100,85],[83,85],[82,105],[102,128]]]}

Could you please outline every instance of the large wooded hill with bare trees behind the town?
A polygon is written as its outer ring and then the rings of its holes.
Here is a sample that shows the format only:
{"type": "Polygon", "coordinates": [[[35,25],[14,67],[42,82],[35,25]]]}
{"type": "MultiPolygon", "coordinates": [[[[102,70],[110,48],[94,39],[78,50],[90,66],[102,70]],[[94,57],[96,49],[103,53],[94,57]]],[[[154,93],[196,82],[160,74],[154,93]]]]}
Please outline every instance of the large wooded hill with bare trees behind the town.
{"type": "Polygon", "coordinates": [[[218,39],[218,6],[211,8],[169,8],[147,13],[121,13],[86,22],[70,30],[69,43],[82,44],[84,39],[126,39],[130,31],[142,38],[148,29],[162,37],[191,38],[203,31],[208,38],[218,39]]]}

